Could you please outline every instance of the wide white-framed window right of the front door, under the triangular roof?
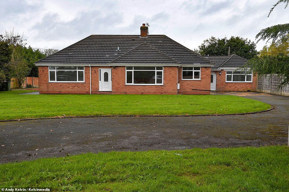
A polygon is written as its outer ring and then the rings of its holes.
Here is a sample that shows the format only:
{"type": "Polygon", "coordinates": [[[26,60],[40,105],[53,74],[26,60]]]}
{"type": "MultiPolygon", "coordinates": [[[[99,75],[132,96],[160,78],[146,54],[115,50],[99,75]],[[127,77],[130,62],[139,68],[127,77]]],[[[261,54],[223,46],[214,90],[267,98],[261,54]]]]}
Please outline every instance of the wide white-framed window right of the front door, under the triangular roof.
{"type": "Polygon", "coordinates": [[[163,84],[163,67],[127,66],[126,84],[163,84]]]}

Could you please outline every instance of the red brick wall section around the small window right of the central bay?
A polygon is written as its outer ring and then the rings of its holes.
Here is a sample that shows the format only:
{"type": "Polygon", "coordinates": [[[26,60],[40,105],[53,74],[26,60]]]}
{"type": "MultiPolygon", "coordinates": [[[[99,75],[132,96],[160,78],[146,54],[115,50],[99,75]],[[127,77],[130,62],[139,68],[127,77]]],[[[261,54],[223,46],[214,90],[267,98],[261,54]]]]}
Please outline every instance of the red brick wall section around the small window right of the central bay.
{"type": "Polygon", "coordinates": [[[182,67],[178,69],[179,94],[210,94],[211,67],[201,67],[201,80],[181,80],[182,67]],[[198,90],[193,90],[198,89],[198,90]]]}

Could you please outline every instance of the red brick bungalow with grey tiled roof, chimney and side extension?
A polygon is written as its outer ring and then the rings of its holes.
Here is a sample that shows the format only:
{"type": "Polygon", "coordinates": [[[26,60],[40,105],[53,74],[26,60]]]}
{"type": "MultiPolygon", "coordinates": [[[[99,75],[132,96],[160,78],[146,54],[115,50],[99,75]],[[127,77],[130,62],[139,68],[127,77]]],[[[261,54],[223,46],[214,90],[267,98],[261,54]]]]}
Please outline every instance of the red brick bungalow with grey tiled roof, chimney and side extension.
{"type": "Polygon", "coordinates": [[[235,71],[237,56],[201,56],[166,35],[90,35],[43,58],[39,92],[46,94],[210,94],[256,90],[256,78],[235,71]],[[235,72],[233,72],[235,71],[235,72]]]}

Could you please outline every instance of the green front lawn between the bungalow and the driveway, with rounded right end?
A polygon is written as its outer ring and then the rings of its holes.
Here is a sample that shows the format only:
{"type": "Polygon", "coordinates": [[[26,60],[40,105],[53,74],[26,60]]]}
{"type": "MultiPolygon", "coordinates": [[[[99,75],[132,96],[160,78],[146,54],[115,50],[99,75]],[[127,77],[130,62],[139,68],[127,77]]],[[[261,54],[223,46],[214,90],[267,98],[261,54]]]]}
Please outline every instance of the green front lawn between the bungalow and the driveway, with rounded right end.
{"type": "MultiPolygon", "coordinates": [[[[20,95],[0,92],[0,120],[87,115],[195,115],[262,111],[270,105],[225,95],[20,95]]],[[[31,91],[30,91],[31,92],[31,91]]]]}

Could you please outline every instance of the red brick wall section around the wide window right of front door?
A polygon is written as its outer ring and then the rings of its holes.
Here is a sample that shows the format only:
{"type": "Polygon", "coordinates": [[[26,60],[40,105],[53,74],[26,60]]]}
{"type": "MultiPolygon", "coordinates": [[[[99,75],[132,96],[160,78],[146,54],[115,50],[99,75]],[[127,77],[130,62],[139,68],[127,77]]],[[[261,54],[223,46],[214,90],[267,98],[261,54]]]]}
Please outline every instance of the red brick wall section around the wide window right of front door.
{"type": "Polygon", "coordinates": [[[177,94],[177,67],[163,67],[163,85],[126,85],[125,66],[116,66],[112,69],[113,94],[177,94]]]}

